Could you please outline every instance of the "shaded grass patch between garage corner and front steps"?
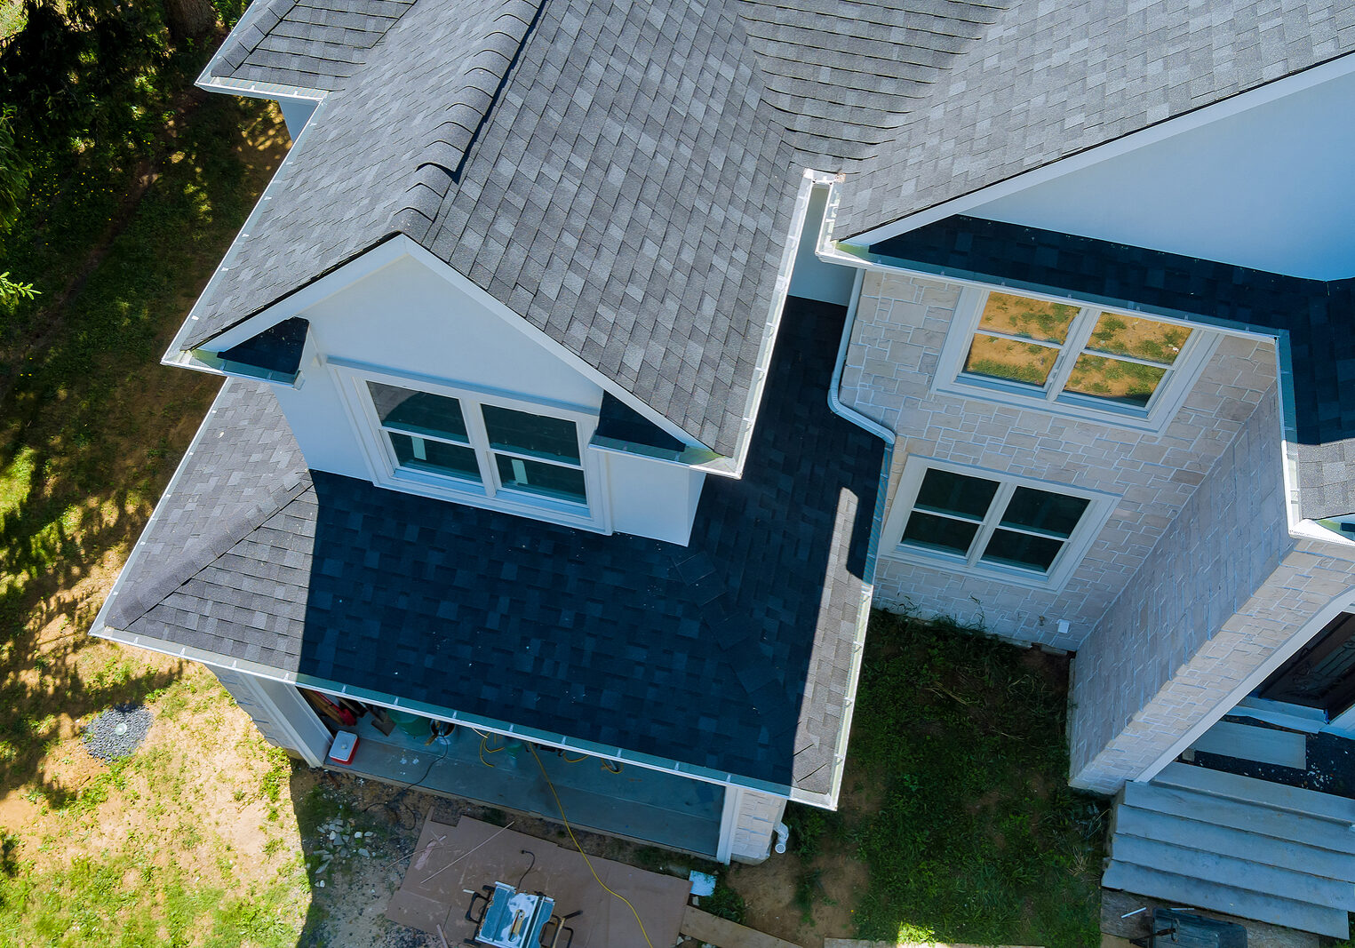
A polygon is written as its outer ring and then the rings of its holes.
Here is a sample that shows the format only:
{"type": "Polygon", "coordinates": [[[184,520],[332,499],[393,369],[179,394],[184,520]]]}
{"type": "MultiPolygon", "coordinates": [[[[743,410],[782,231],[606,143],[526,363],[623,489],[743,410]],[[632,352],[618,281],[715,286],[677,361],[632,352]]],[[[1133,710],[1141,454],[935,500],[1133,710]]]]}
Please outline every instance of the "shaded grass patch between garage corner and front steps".
{"type": "Polygon", "coordinates": [[[755,928],[824,937],[1099,941],[1104,804],[1068,788],[1068,661],[871,618],[837,813],[729,874],[755,928]]]}

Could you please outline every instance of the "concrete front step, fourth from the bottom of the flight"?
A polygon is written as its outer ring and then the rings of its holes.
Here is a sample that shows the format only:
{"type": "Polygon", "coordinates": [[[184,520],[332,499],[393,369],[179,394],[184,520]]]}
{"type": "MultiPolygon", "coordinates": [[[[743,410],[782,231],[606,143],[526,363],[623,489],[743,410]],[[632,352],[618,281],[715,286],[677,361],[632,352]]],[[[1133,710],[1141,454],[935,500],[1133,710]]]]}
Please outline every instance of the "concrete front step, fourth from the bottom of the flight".
{"type": "MultiPolygon", "coordinates": [[[[1199,768],[1192,769],[1198,771],[1199,768]]],[[[1329,819],[1302,817],[1287,810],[1272,810],[1224,796],[1163,787],[1156,783],[1127,783],[1121,799],[1140,810],[1226,826],[1244,833],[1255,833],[1257,837],[1289,840],[1339,853],[1355,853],[1355,833],[1332,823],[1329,819]]]]}

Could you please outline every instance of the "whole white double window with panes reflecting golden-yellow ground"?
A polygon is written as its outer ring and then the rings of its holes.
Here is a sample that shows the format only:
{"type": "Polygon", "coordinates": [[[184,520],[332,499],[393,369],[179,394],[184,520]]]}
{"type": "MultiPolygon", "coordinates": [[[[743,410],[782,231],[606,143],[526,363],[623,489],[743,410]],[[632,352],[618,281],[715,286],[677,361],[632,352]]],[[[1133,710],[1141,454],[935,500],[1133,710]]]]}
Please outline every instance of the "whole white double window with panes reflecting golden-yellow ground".
{"type": "Polygon", "coordinates": [[[1117,310],[970,287],[938,386],[1154,425],[1175,413],[1211,335],[1117,310]]]}

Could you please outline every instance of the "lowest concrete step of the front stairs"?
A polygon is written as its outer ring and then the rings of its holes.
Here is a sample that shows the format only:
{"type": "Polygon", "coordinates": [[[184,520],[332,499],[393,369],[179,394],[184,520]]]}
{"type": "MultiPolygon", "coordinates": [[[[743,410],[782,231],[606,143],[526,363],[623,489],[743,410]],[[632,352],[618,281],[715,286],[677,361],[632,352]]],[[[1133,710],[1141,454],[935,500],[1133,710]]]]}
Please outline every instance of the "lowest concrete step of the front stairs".
{"type": "Polygon", "coordinates": [[[1164,899],[1172,905],[1210,909],[1238,918],[1297,928],[1301,932],[1329,934],[1333,939],[1350,937],[1350,915],[1340,909],[1251,892],[1144,865],[1112,860],[1102,878],[1102,884],[1107,888],[1122,888],[1135,895],[1164,899]]]}

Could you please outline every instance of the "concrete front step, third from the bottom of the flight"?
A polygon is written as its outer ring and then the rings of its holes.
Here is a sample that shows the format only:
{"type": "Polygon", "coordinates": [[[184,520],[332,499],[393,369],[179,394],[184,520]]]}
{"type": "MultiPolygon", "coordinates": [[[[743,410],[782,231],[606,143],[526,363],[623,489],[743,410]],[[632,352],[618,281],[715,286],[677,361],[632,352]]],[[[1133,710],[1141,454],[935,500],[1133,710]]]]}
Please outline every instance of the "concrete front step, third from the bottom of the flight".
{"type": "Polygon", "coordinates": [[[1355,883],[1355,856],[1350,853],[1276,840],[1230,826],[1202,823],[1167,813],[1121,804],[1115,807],[1115,833],[1355,883]]]}

